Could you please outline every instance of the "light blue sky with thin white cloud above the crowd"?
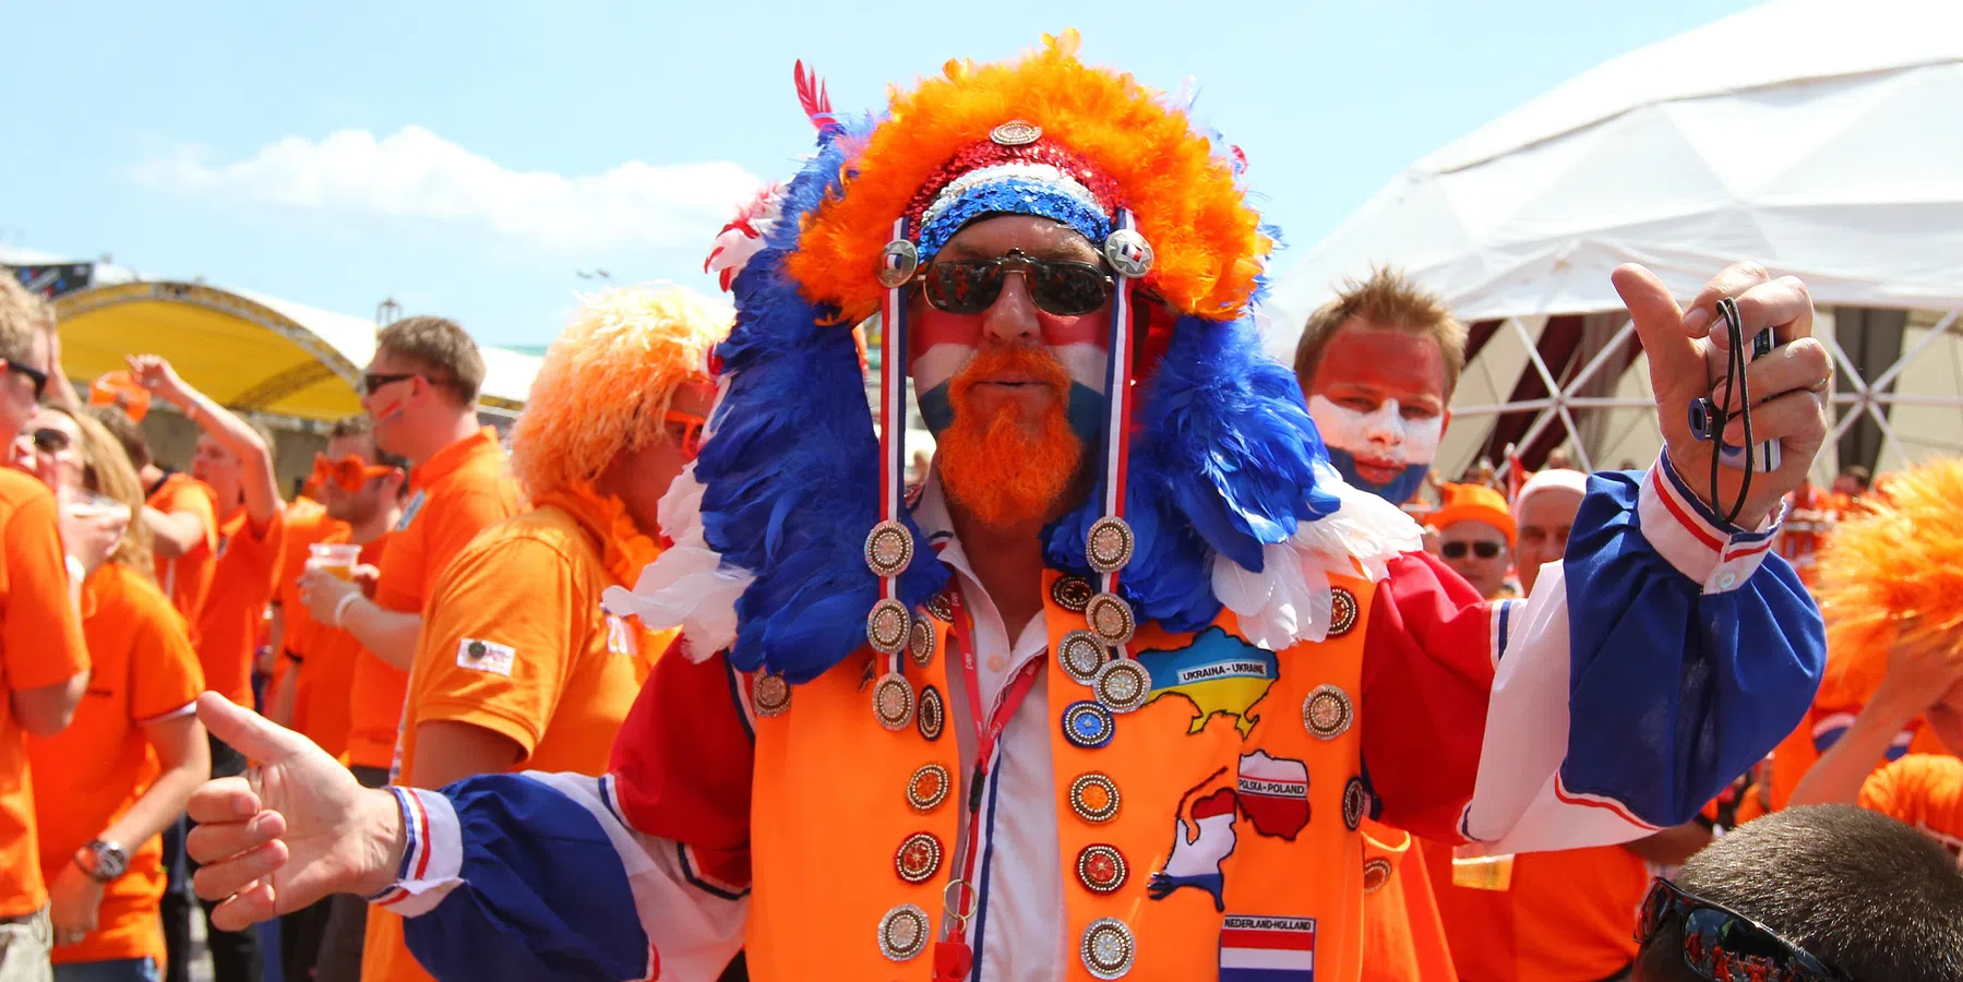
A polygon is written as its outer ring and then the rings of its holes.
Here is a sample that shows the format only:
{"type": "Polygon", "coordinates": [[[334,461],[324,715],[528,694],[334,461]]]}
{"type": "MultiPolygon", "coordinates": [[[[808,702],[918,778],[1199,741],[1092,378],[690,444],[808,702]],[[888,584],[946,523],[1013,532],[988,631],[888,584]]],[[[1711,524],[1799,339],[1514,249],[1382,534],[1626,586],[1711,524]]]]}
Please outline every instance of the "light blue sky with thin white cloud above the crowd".
{"type": "Polygon", "coordinates": [[[0,244],[546,344],[581,271],[713,289],[728,210],[809,149],[797,59],[858,112],[1076,26],[1089,61],[1194,77],[1305,249],[1419,155],[1745,6],[0,4],[0,244]]]}

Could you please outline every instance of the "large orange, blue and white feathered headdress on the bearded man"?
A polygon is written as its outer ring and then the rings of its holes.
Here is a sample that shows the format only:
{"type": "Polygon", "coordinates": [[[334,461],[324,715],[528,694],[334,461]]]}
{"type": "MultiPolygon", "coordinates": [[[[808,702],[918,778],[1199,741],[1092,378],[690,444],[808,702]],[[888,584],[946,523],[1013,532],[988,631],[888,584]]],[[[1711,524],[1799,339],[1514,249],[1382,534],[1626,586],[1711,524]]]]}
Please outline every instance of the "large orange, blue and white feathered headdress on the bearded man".
{"type": "Polygon", "coordinates": [[[1239,149],[1076,51],[1066,31],[1017,61],[950,61],[856,122],[797,67],[817,153],[716,240],[711,269],[736,300],[722,397],[663,501],[675,548],[609,605],[793,683],[868,642],[897,660],[909,611],[948,579],[899,487],[903,291],[962,224],[1001,212],[1078,230],[1117,283],[1105,467],[1044,532],[1052,566],[1101,575],[1127,621],[1199,630],[1225,603],[1282,646],[1321,638],[1323,568],[1360,558],[1382,575],[1384,556],[1417,546],[1402,513],[1335,477],[1294,375],[1260,352],[1250,304],[1274,236],[1247,204],[1239,149]],[[1135,338],[1129,302],[1166,316],[1135,338]],[[877,432],[848,330],[874,314],[877,432]]]}

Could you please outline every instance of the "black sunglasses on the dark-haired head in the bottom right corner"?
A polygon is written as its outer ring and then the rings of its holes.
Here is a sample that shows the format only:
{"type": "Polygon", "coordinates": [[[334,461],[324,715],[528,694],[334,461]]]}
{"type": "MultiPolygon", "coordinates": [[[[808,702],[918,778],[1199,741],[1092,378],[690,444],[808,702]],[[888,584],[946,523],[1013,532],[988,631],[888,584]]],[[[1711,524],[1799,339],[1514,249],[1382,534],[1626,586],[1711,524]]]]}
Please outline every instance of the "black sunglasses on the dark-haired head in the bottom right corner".
{"type": "Polygon", "coordinates": [[[1657,878],[1643,898],[1635,943],[1649,945],[1667,925],[1684,925],[1684,966],[1712,982],[1845,982],[1820,958],[1743,913],[1684,894],[1657,878]]]}

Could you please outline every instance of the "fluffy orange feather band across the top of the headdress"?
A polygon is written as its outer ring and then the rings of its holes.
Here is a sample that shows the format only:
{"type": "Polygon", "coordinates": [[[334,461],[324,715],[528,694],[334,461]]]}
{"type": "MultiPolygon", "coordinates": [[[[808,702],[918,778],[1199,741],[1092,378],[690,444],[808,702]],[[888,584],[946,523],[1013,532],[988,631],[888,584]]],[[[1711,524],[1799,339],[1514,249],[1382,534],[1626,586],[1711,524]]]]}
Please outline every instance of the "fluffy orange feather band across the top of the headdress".
{"type": "Polygon", "coordinates": [[[856,322],[879,306],[879,251],[913,194],[1005,122],[1042,128],[1117,187],[1156,261],[1144,287],[1182,314],[1231,320],[1274,242],[1247,206],[1235,165],[1186,112],[1131,75],[1076,57],[1078,33],[1042,37],[1021,61],[948,61],[940,79],[893,92],[887,120],[848,153],[842,192],[805,218],[785,257],[807,299],[856,322]]]}

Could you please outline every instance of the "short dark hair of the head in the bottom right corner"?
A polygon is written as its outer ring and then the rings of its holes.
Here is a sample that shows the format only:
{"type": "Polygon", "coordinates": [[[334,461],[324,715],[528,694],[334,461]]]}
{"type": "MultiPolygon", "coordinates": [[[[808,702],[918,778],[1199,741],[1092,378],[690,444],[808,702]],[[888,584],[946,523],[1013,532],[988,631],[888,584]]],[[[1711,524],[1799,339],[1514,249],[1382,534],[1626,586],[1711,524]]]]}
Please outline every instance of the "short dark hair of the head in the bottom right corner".
{"type": "MultiPolygon", "coordinates": [[[[1853,805],[1788,807],[1690,856],[1676,886],[1751,917],[1853,982],[1963,980],[1963,870],[1928,835],[1853,805]]],[[[1682,925],[1637,955],[1643,982],[1694,982],[1682,925]]]]}

